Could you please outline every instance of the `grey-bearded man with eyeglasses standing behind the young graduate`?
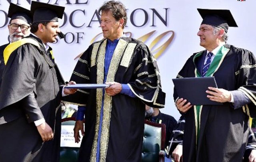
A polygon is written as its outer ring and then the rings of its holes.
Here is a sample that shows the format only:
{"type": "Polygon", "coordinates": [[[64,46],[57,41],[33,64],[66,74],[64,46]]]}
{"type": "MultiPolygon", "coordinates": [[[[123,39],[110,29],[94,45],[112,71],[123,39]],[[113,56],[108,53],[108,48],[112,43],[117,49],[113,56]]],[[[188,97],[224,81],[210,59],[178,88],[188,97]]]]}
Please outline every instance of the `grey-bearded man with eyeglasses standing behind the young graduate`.
{"type": "MultiPolygon", "coordinates": [[[[8,25],[10,43],[18,41],[30,34],[30,26],[32,24],[32,14],[30,10],[11,3],[8,10],[8,17],[11,18],[8,25]]],[[[2,79],[2,73],[4,71],[3,53],[8,44],[9,43],[0,46],[0,80],[2,79]]]]}

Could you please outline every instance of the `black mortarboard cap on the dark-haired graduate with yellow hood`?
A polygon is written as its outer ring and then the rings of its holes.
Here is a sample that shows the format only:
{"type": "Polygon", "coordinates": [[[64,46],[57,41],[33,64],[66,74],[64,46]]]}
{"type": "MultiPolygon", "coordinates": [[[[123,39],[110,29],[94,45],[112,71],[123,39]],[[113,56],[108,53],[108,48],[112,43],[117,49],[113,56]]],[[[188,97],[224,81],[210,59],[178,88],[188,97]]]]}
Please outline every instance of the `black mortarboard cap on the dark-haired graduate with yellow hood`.
{"type": "Polygon", "coordinates": [[[65,7],[32,1],[31,12],[33,22],[58,22],[62,18],[65,7]]]}

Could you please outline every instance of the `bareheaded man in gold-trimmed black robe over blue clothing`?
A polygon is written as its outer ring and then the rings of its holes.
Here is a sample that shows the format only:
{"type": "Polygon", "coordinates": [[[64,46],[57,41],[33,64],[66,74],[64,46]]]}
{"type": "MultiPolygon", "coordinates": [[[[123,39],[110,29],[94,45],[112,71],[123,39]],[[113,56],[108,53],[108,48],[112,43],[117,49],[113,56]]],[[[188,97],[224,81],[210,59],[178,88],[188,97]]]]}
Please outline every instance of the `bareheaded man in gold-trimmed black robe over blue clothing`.
{"type": "Polygon", "coordinates": [[[100,7],[104,39],[92,43],[82,54],[71,80],[76,83],[106,83],[106,89],[78,89],[66,101],[79,107],[78,130],[84,132],[79,162],[141,161],[145,103],[164,107],[156,59],[141,41],[124,36],[126,9],[121,2],[109,1],[100,7]],[[83,110],[81,110],[83,109],[83,110]]]}

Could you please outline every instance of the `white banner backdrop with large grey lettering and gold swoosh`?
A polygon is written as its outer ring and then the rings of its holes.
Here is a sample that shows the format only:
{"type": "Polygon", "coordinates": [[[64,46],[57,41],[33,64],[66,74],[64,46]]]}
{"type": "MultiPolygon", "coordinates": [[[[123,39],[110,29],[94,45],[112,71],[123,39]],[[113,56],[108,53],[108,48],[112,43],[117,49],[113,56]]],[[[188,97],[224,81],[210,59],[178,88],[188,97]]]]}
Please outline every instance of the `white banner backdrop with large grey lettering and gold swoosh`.
{"type": "MultiPolygon", "coordinates": [[[[38,0],[39,1],[39,0],[38,0]]],[[[31,0],[0,1],[0,45],[8,42],[9,3],[29,9],[31,0]]],[[[66,81],[76,65],[74,58],[93,42],[102,39],[99,15],[96,10],[104,0],[40,0],[65,6],[60,21],[66,39],[52,43],[56,62],[66,81]]],[[[166,92],[163,113],[180,117],[173,101],[173,83],[177,73],[192,53],[204,48],[196,35],[202,18],[196,8],[229,9],[238,28],[228,31],[228,43],[256,53],[255,0],[121,0],[126,6],[128,22],[124,29],[128,36],[144,41],[157,57],[162,88],[166,92]]]]}

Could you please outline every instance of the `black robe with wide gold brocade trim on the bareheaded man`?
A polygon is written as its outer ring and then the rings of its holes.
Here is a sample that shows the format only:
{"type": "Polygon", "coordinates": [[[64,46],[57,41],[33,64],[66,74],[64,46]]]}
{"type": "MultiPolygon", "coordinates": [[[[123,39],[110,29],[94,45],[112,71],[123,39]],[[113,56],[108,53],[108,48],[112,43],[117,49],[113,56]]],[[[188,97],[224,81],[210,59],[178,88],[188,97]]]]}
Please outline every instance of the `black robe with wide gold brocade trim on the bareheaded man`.
{"type": "MultiPolygon", "coordinates": [[[[76,83],[103,83],[107,40],[98,41],[80,57],[70,80],[76,83]]],[[[145,104],[164,107],[160,76],[148,47],[131,38],[120,38],[106,81],[128,84],[136,97],[104,95],[100,162],[141,161],[145,104]],[[144,103],[143,103],[144,102],[144,103]]],[[[85,136],[80,162],[96,160],[97,137],[102,105],[102,89],[79,89],[66,101],[86,105],[85,136]]]]}

